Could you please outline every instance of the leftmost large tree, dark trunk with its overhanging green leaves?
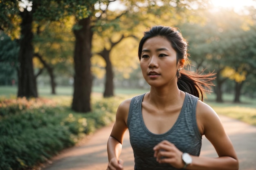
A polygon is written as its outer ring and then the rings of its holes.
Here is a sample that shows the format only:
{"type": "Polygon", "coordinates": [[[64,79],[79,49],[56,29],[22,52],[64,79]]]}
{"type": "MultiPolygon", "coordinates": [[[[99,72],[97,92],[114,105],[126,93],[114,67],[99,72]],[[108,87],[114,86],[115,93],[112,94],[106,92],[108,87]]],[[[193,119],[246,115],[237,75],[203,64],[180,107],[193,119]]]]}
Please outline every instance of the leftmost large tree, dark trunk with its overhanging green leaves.
{"type": "MultiPolygon", "coordinates": [[[[20,52],[19,52],[19,86],[18,97],[37,97],[36,79],[33,68],[34,23],[59,20],[65,16],[76,15],[85,18],[88,15],[85,2],[73,0],[5,0],[0,3],[0,29],[13,36],[19,36],[20,28],[20,52]]],[[[90,1],[86,2],[90,3],[90,1]]]]}

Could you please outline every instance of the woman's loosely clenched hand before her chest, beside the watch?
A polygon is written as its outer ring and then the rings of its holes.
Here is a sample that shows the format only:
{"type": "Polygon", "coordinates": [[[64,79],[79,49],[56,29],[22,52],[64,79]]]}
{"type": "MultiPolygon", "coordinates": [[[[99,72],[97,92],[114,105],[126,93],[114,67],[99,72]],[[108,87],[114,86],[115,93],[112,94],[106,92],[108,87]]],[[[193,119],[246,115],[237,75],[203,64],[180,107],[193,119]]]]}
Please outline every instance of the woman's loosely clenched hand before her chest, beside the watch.
{"type": "Polygon", "coordinates": [[[184,167],[182,152],[171,142],[164,140],[153,149],[155,150],[154,157],[156,157],[158,163],[169,163],[179,169],[184,167]]]}

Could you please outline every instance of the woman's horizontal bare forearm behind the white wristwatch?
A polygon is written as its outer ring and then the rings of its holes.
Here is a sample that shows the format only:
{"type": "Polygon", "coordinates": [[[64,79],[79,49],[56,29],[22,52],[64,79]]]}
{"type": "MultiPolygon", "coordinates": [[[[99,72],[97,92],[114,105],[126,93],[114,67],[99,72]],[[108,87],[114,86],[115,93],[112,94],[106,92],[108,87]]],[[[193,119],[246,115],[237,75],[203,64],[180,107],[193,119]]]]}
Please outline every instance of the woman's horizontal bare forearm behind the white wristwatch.
{"type": "Polygon", "coordinates": [[[196,157],[192,156],[192,163],[187,166],[188,170],[238,170],[238,160],[232,157],[196,157]]]}

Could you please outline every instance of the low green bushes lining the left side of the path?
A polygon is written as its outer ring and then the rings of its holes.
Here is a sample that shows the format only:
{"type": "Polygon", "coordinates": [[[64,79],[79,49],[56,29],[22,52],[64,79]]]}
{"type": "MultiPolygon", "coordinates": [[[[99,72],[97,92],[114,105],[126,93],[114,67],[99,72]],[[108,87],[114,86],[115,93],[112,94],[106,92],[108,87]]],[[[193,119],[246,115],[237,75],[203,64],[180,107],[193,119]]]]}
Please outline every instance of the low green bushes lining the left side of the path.
{"type": "Polygon", "coordinates": [[[94,101],[91,113],[73,113],[70,102],[0,101],[0,169],[25,170],[44,162],[97,128],[114,121],[119,99],[94,101]]]}

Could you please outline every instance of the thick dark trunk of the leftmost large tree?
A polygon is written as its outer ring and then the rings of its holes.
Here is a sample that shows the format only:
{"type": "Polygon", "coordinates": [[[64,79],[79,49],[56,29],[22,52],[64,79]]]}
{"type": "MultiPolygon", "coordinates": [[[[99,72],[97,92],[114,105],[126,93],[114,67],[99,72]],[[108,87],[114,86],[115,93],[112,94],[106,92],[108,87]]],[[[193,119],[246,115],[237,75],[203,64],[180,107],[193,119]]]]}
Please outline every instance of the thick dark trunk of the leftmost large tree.
{"type": "Polygon", "coordinates": [[[26,9],[21,12],[21,38],[20,38],[20,51],[18,60],[20,68],[18,71],[18,97],[38,97],[36,78],[33,68],[33,53],[32,46],[32,12],[26,9]]]}

